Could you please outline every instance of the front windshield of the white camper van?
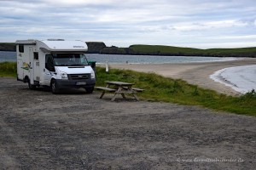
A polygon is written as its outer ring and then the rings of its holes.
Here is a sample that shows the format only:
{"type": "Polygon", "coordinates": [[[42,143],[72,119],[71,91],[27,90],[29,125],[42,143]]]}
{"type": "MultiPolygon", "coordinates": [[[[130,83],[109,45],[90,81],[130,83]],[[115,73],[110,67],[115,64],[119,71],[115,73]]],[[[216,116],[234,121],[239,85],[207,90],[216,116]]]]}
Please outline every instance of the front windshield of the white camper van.
{"type": "Polygon", "coordinates": [[[56,66],[88,65],[84,54],[52,54],[56,66]]]}

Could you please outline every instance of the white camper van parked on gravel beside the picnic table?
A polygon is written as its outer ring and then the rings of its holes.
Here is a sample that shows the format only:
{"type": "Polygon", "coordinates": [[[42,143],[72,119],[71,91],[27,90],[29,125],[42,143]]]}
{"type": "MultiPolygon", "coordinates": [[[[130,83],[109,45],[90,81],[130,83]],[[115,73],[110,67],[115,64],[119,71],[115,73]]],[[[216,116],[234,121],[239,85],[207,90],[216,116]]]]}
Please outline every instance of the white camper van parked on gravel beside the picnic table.
{"type": "Polygon", "coordinates": [[[82,41],[17,40],[17,80],[29,88],[49,86],[53,94],[61,88],[85,88],[90,94],[96,77],[84,55],[87,49],[82,41]]]}

